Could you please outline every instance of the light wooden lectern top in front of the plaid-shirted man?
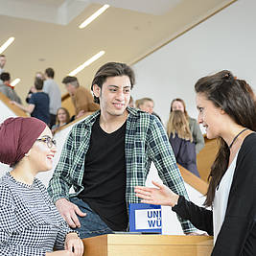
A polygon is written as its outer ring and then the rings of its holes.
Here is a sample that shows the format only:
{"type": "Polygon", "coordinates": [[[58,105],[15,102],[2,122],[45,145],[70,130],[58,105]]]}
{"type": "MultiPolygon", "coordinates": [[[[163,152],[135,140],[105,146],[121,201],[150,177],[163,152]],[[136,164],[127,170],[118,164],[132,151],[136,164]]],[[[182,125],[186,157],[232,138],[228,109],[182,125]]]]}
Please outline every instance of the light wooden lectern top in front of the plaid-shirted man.
{"type": "Polygon", "coordinates": [[[213,237],[109,234],[82,240],[84,256],[209,256],[213,237]]]}

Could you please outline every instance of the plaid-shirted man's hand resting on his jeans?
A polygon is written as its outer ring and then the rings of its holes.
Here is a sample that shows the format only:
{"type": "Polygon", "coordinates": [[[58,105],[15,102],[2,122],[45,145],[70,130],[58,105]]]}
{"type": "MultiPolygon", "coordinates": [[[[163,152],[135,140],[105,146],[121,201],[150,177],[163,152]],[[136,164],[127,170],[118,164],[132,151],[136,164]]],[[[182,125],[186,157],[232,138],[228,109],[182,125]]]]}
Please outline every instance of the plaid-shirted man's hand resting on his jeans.
{"type": "Polygon", "coordinates": [[[81,223],[77,215],[84,217],[86,214],[82,213],[76,204],[68,201],[66,198],[60,198],[56,201],[56,207],[60,215],[64,218],[70,227],[81,227],[81,223]]]}

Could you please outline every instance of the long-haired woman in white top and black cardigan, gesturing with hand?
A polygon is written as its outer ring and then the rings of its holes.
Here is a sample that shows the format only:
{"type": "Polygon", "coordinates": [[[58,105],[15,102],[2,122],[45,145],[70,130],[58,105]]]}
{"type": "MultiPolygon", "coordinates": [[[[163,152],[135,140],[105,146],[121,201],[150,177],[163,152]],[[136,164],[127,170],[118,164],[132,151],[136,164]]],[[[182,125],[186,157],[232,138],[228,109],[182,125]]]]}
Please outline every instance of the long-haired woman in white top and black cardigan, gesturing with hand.
{"type": "Polygon", "coordinates": [[[256,255],[256,104],[250,86],[230,71],[198,80],[198,123],[219,138],[209,187],[198,207],[165,185],[136,187],[142,202],[172,206],[181,218],[214,235],[212,256],[256,255]]]}

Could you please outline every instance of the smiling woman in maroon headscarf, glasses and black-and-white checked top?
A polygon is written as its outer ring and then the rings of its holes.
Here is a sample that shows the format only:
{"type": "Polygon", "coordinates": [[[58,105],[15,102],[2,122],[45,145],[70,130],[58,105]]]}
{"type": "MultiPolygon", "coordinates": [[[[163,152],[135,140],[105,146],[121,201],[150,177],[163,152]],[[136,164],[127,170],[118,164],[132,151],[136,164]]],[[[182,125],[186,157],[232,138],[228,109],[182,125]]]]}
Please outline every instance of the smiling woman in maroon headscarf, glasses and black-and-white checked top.
{"type": "Polygon", "coordinates": [[[0,179],[0,254],[81,256],[78,233],[35,177],[52,169],[56,143],[50,128],[35,118],[9,118],[0,126],[0,145],[0,162],[13,168],[0,179]]]}

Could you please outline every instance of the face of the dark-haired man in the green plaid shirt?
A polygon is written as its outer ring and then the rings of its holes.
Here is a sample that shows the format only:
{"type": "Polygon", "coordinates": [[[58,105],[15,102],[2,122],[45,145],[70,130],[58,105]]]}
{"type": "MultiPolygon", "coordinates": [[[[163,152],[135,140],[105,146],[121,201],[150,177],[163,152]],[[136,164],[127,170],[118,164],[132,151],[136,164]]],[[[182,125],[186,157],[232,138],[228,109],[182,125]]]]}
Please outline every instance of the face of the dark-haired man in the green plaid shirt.
{"type": "Polygon", "coordinates": [[[128,106],[130,88],[128,76],[109,77],[102,88],[94,84],[93,92],[96,97],[100,98],[102,114],[111,117],[123,115],[128,106]]]}

